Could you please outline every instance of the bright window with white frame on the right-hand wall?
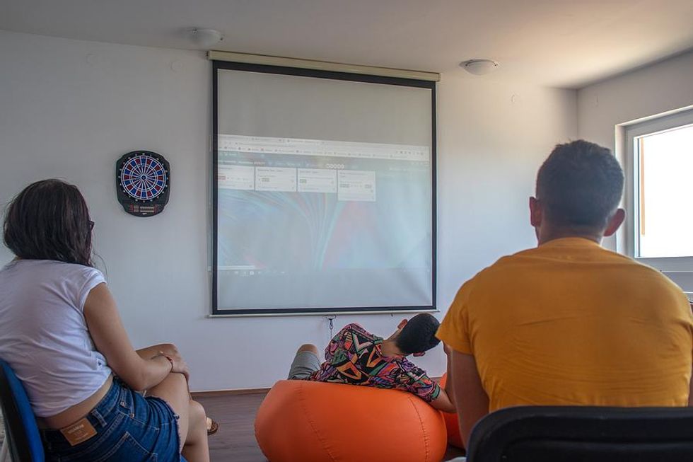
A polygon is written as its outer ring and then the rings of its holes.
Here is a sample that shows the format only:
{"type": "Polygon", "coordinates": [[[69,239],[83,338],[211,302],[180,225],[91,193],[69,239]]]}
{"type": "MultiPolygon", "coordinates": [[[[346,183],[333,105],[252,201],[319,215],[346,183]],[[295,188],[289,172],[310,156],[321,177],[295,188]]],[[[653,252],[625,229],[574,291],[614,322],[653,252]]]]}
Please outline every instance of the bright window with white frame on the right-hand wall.
{"type": "Polygon", "coordinates": [[[628,127],[626,142],[629,253],[693,257],[693,110],[628,127]]]}

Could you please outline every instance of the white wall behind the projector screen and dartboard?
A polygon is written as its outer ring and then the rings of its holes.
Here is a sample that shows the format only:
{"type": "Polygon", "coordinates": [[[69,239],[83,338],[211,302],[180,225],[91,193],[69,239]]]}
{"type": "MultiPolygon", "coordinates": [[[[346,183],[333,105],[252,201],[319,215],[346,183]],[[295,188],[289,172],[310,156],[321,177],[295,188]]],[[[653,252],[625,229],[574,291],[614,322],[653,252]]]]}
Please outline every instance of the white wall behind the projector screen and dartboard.
{"type": "MultiPolygon", "coordinates": [[[[80,187],[136,347],[175,342],[192,388],[213,390],[271,386],[298,345],[325,345],[321,317],[205,317],[211,67],[202,53],[0,31],[0,63],[0,203],[42,178],[80,187]],[[171,163],[170,202],[147,219],[125,214],[115,197],[115,161],[134,149],[171,163]]],[[[438,91],[442,311],[465,279],[535,245],[527,212],[535,172],[577,133],[574,91],[458,72],[443,75],[438,91]]],[[[11,257],[0,246],[0,262],[11,257]]],[[[399,320],[339,316],[335,327],[359,322],[389,335],[399,320]]],[[[445,368],[441,347],[417,362],[433,376],[445,368]]]]}

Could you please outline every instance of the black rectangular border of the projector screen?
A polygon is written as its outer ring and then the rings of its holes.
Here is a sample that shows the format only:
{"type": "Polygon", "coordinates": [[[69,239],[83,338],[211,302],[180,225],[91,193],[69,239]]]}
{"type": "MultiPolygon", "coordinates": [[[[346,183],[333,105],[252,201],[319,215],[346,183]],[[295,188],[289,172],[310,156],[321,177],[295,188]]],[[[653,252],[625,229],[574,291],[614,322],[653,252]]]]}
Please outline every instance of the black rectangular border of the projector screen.
{"type": "Polygon", "coordinates": [[[342,71],[283,67],[269,64],[229,62],[212,59],[212,265],[211,265],[211,315],[208,317],[252,317],[252,316],[325,316],[340,314],[391,314],[437,312],[436,305],[436,81],[407,79],[402,77],[352,74],[342,71]],[[248,71],[263,74],[313,77],[383,85],[425,88],[431,91],[431,305],[425,306],[344,306],[310,308],[219,308],[219,71],[248,71]]]}

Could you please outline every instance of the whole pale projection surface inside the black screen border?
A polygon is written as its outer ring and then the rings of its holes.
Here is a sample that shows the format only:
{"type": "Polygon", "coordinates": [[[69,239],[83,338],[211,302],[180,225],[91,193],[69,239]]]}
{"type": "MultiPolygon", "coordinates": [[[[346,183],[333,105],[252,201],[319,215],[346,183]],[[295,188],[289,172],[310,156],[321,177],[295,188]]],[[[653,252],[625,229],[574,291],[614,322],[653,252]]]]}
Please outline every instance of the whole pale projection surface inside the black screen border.
{"type": "Polygon", "coordinates": [[[433,308],[433,87],[216,72],[214,313],[433,308]]]}

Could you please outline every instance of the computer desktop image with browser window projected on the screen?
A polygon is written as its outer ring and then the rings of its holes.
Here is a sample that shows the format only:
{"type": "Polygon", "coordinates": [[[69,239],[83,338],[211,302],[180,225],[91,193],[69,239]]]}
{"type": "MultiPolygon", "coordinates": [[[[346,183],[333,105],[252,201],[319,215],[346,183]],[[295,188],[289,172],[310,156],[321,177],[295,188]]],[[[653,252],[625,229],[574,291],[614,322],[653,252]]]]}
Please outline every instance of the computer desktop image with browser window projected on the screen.
{"type": "Polygon", "coordinates": [[[431,305],[429,146],[221,134],[219,307],[431,305]]]}

